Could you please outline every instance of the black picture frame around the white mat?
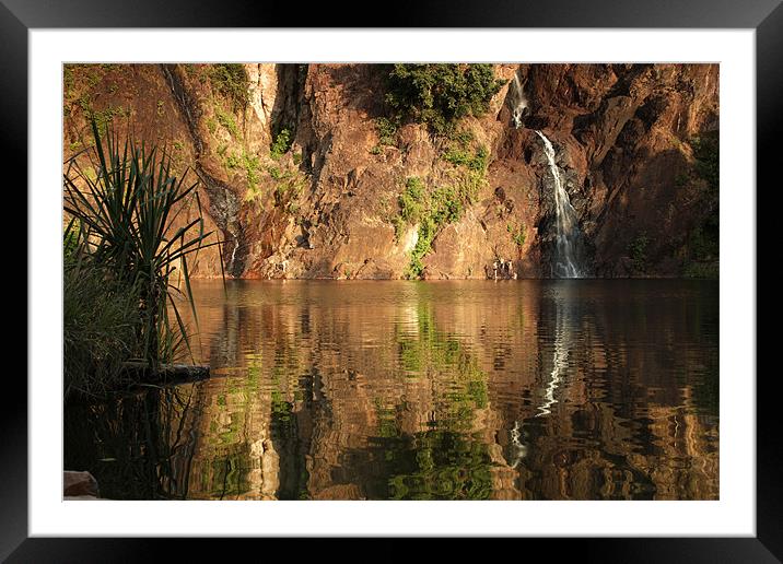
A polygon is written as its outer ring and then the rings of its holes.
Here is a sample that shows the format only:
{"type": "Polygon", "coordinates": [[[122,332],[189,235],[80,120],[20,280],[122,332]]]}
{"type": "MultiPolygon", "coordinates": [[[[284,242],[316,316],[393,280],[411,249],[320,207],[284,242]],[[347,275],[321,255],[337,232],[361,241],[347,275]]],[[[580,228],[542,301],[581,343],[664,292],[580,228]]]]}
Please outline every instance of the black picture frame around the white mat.
{"type": "MultiPolygon", "coordinates": [[[[757,80],[757,184],[779,185],[775,137],[781,128],[783,101],[782,0],[547,0],[451,2],[398,1],[383,21],[351,22],[347,13],[370,14],[366,3],[309,4],[306,10],[291,2],[267,3],[230,0],[0,0],[0,116],[2,154],[21,172],[15,186],[26,186],[27,162],[27,33],[32,28],[89,27],[628,27],[628,28],[748,28],[756,31],[757,80]]],[[[379,7],[383,8],[383,7],[379,7]]],[[[370,20],[370,19],[367,19],[370,20]]],[[[756,189],[752,187],[751,189],[756,189]]],[[[33,213],[25,190],[7,213],[33,213]]],[[[8,201],[5,202],[8,205],[8,201]]],[[[28,215],[25,215],[28,216],[28,215]]],[[[17,233],[21,233],[20,230],[17,233]]],[[[26,261],[26,228],[25,261],[26,261]]],[[[20,246],[17,245],[17,248],[20,246]]],[[[20,275],[21,268],[14,268],[20,275]]],[[[25,274],[25,286],[28,287],[25,274]]],[[[756,273],[753,272],[753,277],[756,273]]],[[[27,302],[35,296],[27,292],[27,302]]],[[[21,334],[21,331],[20,331],[21,334]]],[[[26,334],[26,331],[25,331],[26,334]]],[[[31,336],[34,337],[34,336],[31,336]]],[[[755,364],[753,364],[755,365],[755,364]]],[[[783,481],[780,478],[781,445],[776,412],[775,374],[736,375],[756,378],[757,386],[757,536],[755,538],[623,538],[525,539],[526,551],[558,543],[579,550],[581,560],[600,562],[780,562],[783,560],[783,481]]],[[[13,379],[13,378],[9,378],[13,379]]],[[[8,379],[7,379],[8,380],[8,379]]],[[[5,387],[0,410],[0,560],[9,562],[114,562],[148,560],[159,554],[161,542],[175,542],[179,559],[203,555],[203,543],[161,539],[28,538],[27,534],[27,387],[15,378],[19,390],[5,387]]],[[[729,456],[722,453],[722,456],[729,456]]],[[[247,542],[225,539],[232,550],[247,542]]],[[[264,539],[268,547],[270,539],[264,539]]],[[[386,539],[383,543],[396,543],[386,539]]],[[[243,547],[244,545],[244,547],[243,547]]],[[[276,540],[276,551],[284,543],[276,540]]],[[[376,549],[378,550],[378,549],[376,549]]],[[[383,553],[383,549],[378,550],[383,553]]],[[[562,552],[561,552],[562,554],[562,552]]]]}

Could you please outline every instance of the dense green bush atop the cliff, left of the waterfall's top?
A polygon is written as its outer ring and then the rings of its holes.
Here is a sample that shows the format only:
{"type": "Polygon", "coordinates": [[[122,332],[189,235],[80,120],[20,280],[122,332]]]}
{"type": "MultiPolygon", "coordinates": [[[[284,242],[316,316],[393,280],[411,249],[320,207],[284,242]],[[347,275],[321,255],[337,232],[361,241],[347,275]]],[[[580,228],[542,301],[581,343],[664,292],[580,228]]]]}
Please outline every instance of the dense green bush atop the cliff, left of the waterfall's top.
{"type": "Polygon", "coordinates": [[[486,113],[503,84],[494,78],[492,64],[395,64],[386,103],[394,119],[411,119],[447,134],[460,118],[486,113]]]}

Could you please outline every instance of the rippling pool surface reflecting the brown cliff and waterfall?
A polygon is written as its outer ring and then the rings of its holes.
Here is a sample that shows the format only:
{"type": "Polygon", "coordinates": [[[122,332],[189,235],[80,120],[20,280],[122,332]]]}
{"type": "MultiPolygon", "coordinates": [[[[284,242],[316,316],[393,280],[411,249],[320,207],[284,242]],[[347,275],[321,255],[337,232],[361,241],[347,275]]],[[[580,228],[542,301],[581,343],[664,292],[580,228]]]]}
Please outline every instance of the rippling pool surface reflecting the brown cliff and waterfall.
{"type": "Polygon", "coordinates": [[[715,285],[196,292],[214,377],[180,415],[178,495],[717,497],[715,285]]]}

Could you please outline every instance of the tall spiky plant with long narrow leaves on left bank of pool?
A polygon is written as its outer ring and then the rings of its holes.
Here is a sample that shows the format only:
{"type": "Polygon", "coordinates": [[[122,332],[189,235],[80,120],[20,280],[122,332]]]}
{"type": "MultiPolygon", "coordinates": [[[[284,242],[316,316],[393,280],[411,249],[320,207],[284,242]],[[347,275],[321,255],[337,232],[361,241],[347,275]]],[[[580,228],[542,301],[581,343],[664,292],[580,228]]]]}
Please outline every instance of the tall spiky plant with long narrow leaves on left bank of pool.
{"type": "Polygon", "coordinates": [[[81,164],[81,153],[66,162],[65,210],[78,221],[91,259],[138,289],[140,360],[155,371],[182,344],[192,359],[178,307],[184,298],[198,327],[188,259],[220,243],[209,242],[213,232],[204,232],[199,183],[185,184],[188,171],[177,178],[165,150],[132,139],[120,142],[108,128],[102,137],[94,121],[92,132],[91,166],[81,164]]]}

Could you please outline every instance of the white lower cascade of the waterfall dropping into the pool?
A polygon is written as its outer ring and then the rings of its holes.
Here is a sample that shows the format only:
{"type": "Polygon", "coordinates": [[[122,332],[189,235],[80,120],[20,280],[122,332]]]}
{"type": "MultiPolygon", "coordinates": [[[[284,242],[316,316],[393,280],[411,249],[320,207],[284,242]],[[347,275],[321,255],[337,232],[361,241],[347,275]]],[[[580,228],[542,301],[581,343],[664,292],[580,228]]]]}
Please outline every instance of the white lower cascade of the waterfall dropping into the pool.
{"type": "Polygon", "coordinates": [[[554,179],[554,213],[557,223],[557,246],[552,275],[556,278],[581,278],[576,259],[576,246],[581,237],[576,223],[576,211],[571,205],[569,195],[563,186],[560,168],[554,162],[554,148],[547,137],[536,130],[544,141],[544,152],[549,162],[549,172],[554,179]]]}

